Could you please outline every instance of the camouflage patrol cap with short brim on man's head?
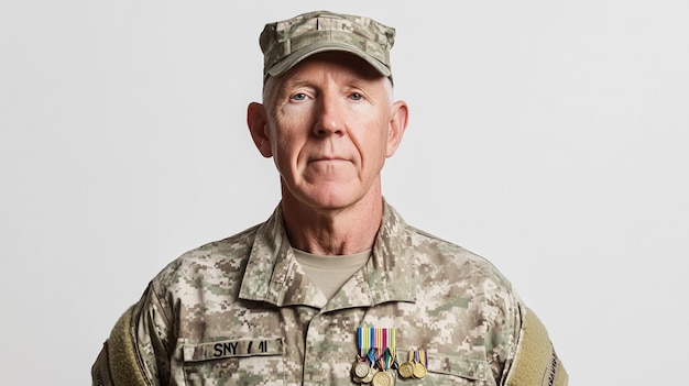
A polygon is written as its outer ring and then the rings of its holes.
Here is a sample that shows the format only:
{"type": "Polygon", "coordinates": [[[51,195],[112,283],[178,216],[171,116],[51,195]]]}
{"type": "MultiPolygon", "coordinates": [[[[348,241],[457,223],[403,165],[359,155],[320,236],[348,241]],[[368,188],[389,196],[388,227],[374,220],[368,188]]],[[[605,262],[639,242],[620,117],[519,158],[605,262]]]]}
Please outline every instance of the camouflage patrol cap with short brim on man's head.
{"type": "Polygon", "coordinates": [[[395,30],[363,16],[315,11],[265,24],[260,44],[263,79],[280,76],[310,55],[342,51],[391,77],[390,49],[395,30]]]}

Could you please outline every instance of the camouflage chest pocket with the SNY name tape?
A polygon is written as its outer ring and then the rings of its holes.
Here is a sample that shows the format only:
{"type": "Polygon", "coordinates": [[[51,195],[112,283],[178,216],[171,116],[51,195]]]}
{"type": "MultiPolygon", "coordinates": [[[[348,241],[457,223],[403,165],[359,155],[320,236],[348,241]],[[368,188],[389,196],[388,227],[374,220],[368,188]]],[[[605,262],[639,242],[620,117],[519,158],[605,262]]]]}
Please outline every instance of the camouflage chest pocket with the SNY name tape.
{"type": "Polygon", "coordinates": [[[282,338],[185,343],[186,385],[282,385],[285,378],[282,338]]]}

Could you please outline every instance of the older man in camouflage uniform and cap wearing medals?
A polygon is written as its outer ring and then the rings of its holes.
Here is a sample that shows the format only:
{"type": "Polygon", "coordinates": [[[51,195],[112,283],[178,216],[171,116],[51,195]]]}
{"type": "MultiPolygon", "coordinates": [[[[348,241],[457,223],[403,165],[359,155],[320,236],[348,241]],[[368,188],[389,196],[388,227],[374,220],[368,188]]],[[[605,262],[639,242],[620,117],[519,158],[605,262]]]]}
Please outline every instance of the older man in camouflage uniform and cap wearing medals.
{"type": "Polygon", "coordinates": [[[280,173],[264,223],[193,250],[124,312],[94,385],[565,385],[538,319],[485,260],[407,225],[381,169],[408,108],[394,30],[267,24],[247,121],[280,173]]]}

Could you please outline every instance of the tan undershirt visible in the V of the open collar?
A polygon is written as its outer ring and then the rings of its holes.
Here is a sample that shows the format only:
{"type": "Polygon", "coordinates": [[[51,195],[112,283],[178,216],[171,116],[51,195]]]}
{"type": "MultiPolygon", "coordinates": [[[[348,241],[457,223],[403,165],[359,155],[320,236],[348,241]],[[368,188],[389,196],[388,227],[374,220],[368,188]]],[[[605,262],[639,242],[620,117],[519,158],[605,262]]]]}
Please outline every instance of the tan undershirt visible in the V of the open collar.
{"type": "Polygon", "coordinates": [[[371,256],[371,250],[353,255],[324,256],[295,249],[294,255],[302,269],[330,299],[371,256]]]}

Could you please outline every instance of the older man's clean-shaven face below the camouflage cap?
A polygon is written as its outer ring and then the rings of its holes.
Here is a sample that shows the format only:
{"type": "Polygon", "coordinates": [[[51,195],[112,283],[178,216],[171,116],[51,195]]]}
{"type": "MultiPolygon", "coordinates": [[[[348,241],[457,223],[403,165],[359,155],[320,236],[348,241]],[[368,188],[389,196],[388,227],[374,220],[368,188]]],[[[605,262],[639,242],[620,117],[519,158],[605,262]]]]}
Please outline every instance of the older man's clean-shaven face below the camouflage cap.
{"type": "Polygon", "coordinates": [[[274,158],[283,196],[341,209],[380,195],[380,172],[406,124],[386,78],[350,54],[314,55],[269,79],[264,103],[269,143],[256,144],[274,158]]]}

